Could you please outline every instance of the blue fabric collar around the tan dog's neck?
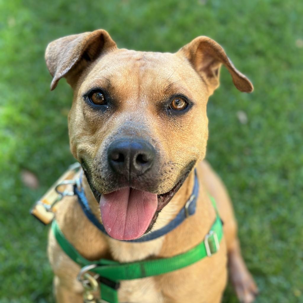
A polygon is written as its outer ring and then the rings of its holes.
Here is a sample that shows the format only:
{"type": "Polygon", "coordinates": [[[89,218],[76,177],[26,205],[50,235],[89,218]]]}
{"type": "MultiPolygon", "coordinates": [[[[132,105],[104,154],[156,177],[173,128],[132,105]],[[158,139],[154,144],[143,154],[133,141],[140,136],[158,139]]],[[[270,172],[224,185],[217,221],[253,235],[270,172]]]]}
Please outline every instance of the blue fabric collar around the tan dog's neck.
{"type": "MultiPolygon", "coordinates": [[[[97,227],[99,228],[105,235],[108,235],[105,231],[104,226],[98,221],[98,219],[94,216],[92,213],[91,208],[89,207],[87,198],[84,193],[84,189],[81,183],[80,190],[77,188],[77,186],[74,187],[74,193],[78,196],[79,204],[81,205],[86,217],[97,227]]],[[[198,177],[197,172],[195,170],[195,183],[192,190],[192,193],[189,197],[189,199],[186,201],[185,205],[181,210],[179,211],[178,215],[171,220],[167,225],[164,227],[151,231],[142,237],[135,239],[135,240],[122,240],[127,242],[145,242],[154,240],[156,238],[159,238],[168,232],[172,231],[174,228],[176,228],[178,225],[180,225],[187,217],[190,217],[195,214],[196,211],[196,201],[199,194],[199,183],[198,183],[198,177]]]]}

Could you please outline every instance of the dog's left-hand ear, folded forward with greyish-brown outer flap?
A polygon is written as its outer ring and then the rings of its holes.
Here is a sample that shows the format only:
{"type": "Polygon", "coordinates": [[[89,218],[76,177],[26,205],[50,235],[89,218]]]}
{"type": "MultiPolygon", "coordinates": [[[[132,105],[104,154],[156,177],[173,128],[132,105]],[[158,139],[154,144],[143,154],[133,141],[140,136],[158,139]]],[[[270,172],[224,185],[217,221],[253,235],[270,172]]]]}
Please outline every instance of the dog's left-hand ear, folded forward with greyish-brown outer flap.
{"type": "Polygon", "coordinates": [[[58,81],[66,76],[72,68],[82,67],[85,63],[95,60],[102,52],[117,48],[108,32],[103,29],[59,38],[48,44],[45,61],[53,80],[51,90],[58,81]]]}

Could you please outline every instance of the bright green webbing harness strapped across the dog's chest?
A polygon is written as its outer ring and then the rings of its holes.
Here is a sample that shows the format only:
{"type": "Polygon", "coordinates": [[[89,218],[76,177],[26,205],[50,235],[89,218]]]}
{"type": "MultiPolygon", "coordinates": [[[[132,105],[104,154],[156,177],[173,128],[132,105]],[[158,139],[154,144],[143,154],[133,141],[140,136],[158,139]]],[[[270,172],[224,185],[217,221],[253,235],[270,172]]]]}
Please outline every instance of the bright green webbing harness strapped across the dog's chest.
{"type": "Polygon", "coordinates": [[[210,198],[216,211],[216,219],[211,226],[210,231],[205,236],[204,240],[197,246],[185,253],[170,258],[159,258],[130,263],[119,263],[106,259],[88,261],[68,242],[57,222],[54,220],[52,222],[52,231],[55,238],[65,254],[80,265],[82,268],[80,273],[90,271],[98,275],[101,301],[95,301],[92,298],[85,300],[85,302],[118,303],[119,281],[163,275],[215,254],[219,250],[219,243],[223,237],[223,228],[215,200],[213,197],[210,198]]]}

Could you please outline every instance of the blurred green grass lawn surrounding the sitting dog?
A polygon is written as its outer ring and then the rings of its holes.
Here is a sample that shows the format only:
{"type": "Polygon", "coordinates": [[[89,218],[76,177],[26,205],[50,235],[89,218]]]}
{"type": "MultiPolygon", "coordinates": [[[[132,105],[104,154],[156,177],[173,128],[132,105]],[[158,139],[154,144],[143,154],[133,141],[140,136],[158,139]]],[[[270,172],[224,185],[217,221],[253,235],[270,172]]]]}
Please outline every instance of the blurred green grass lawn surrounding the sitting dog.
{"type": "MultiPolygon", "coordinates": [[[[44,50],[98,28],[119,47],[161,52],[208,35],[252,80],[242,94],[222,68],[207,158],[234,201],[257,302],[303,302],[302,15],[302,1],[282,0],[0,0],[0,302],[53,302],[48,228],[29,209],[74,161],[72,91],[65,80],[49,91],[44,50]]],[[[237,302],[230,286],[224,302],[237,302]]]]}

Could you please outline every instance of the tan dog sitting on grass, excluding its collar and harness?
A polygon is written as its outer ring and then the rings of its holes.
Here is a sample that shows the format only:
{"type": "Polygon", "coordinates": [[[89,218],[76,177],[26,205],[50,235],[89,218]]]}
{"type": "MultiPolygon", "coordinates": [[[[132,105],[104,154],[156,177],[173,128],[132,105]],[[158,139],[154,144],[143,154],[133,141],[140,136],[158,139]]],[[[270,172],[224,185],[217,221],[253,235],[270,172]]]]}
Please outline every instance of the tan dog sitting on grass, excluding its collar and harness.
{"type": "MultiPolygon", "coordinates": [[[[202,161],[208,138],[206,104],[219,86],[221,64],[241,92],[253,90],[223,48],[201,36],[175,54],[136,52],[117,48],[106,31],[97,30],[55,40],[45,58],[53,76],[51,89],[65,77],[74,90],[68,116],[71,151],[84,168],[89,205],[112,237],[92,225],[76,197],[65,198],[56,219],[82,256],[131,262],[188,251],[215,219],[208,193],[224,222],[215,255],[165,275],[122,281],[119,302],[220,302],[227,265],[240,301],[252,302],[257,287],[241,257],[230,199],[202,161]],[[171,221],[191,194],[194,167],[200,183],[195,215],[152,241],[115,240],[138,238],[171,221]]],[[[52,233],[48,255],[57,301],[83,302],[76,280],[80,268],[52,233]]]]}

